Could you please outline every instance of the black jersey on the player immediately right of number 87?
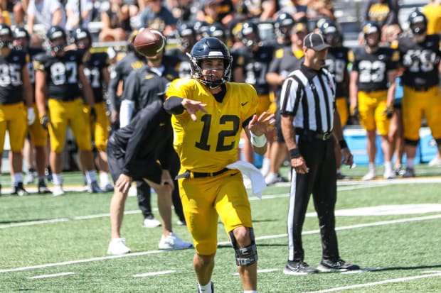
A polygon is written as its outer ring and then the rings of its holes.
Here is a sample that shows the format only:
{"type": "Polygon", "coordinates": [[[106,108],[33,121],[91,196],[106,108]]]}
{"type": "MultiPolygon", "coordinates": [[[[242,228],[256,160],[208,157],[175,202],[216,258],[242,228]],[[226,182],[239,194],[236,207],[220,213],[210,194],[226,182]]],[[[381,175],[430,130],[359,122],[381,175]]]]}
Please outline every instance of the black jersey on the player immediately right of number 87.
{"type": "Polygon", "coordinates": [[[84,61],[84,74],[92,87],[95,103],[104,101],[104,77],[102,70],[109,66],[106,52],[91,52],[84,61]]]}

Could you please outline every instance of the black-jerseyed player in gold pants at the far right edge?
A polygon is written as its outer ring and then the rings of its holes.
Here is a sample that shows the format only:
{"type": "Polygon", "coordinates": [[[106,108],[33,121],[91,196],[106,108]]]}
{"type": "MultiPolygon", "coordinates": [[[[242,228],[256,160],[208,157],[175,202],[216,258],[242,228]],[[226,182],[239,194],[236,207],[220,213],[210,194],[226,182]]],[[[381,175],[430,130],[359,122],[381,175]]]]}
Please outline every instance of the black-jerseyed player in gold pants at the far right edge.
{"type": "Polygon", "coordinates": [[[403,126],[406,170],[415,177],[414,158],[420,139],[423,114],[437,143],[437,156],[430,165],[441,164],[440,35],[427,35],[427,18],[415,9],[409,16],[413,35],[398,39],[403,72],[403,126]]]}

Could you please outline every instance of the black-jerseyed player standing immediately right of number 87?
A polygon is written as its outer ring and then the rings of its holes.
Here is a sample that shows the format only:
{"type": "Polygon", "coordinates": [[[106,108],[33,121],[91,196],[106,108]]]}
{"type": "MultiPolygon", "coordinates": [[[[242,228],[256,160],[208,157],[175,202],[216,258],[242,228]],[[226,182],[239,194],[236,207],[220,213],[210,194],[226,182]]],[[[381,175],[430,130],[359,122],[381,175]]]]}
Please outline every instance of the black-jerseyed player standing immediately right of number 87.
{"type": "MultiPolygon", "coordinates": [[[[107,139],[109,138],[110,121],[107,117],[107,106],[104,89],[110,80],[109,57],[107,52],[92,48],[92,35],[85,28],[73,31],[73,39],[77,50],[83,54],[84,73],[92,87],[95,111],[95,121],[90,121],[90,109],[84,105],[85,119],[89,121],[92,130],[92,141],[97,150],[96,165],[100,172],[100,188],[105,192],[112,192],[113,187],[109,182],[109,166],[107,165],[107,139]]],[[[81,155],[81,153],[80,153],[81,155]]]]}

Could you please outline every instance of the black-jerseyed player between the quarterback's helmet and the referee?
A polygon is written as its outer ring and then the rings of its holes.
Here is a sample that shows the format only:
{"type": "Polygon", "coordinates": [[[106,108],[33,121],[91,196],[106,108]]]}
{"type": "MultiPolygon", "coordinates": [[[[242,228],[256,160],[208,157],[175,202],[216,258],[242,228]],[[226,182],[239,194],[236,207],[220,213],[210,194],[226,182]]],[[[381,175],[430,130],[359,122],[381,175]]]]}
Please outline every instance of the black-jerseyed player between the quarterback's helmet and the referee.
{"type": "MultiPolygon", "coordinates": [[[[252,84],[259,96],[259,104],[257,106],[257,116],[263,112],[275,113],[274,109],[269,109],[274,96],[270,91],[270,84],[265,79],[268,67],[274,55],[275,47],[267,45],[260,40],[259,28],[257,23],[253,21],[245,21],[240,31],[241,40],[244,44],[242,48],[232,49],[231,55],[237,56],[238,60],[243,59],[243,65],[234,63],[233,60],[233,82],[246,82],[252,84]]],[[[272,142],[272,135],[268,135],[267,139],[272,142]]],[[[254,163],[254,152],[249,140],[244,139],[243,154],[246,162],[254,163]]],[[[265,154],[269,157],[269,153],[265,154]]]]}

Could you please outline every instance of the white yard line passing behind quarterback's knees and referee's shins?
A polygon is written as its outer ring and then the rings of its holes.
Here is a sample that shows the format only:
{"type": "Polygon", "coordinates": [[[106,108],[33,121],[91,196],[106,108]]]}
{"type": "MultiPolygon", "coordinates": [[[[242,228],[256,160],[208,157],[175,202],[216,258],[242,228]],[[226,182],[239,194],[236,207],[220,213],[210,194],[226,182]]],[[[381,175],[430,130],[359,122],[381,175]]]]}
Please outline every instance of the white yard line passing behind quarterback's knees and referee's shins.
{"type": "MultiPolygon", "coordinates": [[[[415,217],[415,218],[408,218],[408,219],[398,219],[398,220],[393,220],[393,221],[380,221],[380,222],[363,223],[363,224],[351,225],[351,226],[341,226],[341,227],[336,227],[336,230],[341,231],[341,230],[347,230],[347,229],[353,229],[353,228],[364,228],[364,227],[369,227],[369,226],[382,226],[382,225],[388,225],[388,224],[393,224],[393,223],[405,223],[405,222],[410,222],[410,221],[425,221],[425,220],[440,219],[440,218],[441,218],[441,214],[437,214],[437,215],[432,215],[432,216],[422,216],[422,217],[415,217]]],[[[302,235],[309,235],[309,234],[314,234],[314,233],[319,233],[319,230],[304,231],[302,233],[302,235]]],[[[256,237],[256,240],[281,238],[281,237],[287,237],[287,234],[285,233],[285,234],[271,235],[271,236],[260,236],[260,237],[256,237]]],[[[224,242],[218,243],[218,245],[230,245],[230,242],[224,241],[224,242]]],[[[129,258],[132,256],[149,255],[149,254],[164,253],[164,252],[166,252],[166,251],[164,251],[164,250],[149,250],[149,251],[144,251],[141,253],[128,253],[126,255],[112,255],[112,256],[104,256],[104,257],[100,257],[100,258],[87,258],[84,260],[70,260],[67,262],[55,262],[55,263],[48,263],[45,265],[32,265],[29,267],[16,267],[14,269],[0,270],[0,273],[2,273],[2,272],[20,272],[20,271],[24,271],[24,270],[41,269],[44,267],[57,267],[57,266],[62,266],[62,265],[74,265],[74,264],[83,263],[83,262],[110,260],[112,258],[129,258]]]]}

